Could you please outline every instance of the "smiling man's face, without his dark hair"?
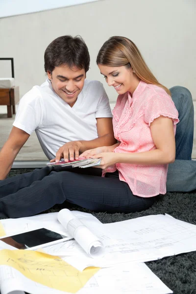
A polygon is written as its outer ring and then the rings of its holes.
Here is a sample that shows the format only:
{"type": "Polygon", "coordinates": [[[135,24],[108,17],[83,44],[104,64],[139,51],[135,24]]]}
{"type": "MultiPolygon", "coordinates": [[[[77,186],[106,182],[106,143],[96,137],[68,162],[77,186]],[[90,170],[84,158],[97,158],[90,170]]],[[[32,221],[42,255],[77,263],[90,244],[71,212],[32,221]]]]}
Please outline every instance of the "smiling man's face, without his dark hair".
{"type": "Polygon", "coordinates": [[[70,69],[63,65],[55,67],[52,73],[47,73],[54,92],[73,107],[84,86],[85,70],[78,70],[76,67],[70,69]]]}

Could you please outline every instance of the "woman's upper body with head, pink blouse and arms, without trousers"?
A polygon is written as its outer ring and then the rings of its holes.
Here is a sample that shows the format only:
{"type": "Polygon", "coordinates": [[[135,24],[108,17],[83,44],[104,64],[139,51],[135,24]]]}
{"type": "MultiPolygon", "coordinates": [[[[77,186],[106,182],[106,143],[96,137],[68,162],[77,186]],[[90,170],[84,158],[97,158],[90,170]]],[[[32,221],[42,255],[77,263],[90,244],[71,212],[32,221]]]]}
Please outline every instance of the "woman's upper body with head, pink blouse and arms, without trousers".
{"type": "Polygon", "coordinates": [[[165,194],[168,164],[175,160],[174,133],[179,122],[170,91],[157,81],[127,38],[106,41],[97,64],[108,85],[119,94],[113,126],[120,143],[102,147],[107,153],[95,155],[94,149],[82,155],[101,157],[103,175],[118,170],[120,180],[128,183],[134,195],[165,194]]]}

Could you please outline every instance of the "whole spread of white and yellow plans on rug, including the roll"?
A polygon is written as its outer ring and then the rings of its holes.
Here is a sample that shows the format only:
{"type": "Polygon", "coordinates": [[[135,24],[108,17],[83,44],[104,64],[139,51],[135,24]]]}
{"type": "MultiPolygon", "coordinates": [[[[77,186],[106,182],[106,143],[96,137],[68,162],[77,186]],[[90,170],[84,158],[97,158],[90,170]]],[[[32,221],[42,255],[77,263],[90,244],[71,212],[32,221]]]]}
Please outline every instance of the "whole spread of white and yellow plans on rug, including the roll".
{"type": "Polygon", "coordinates": [[[43,223],[45,228],[59,234],[66,232],[75,240],[43,248],[43,253],[17,250],[21,253],[12,255],[13,248],[0,241],[1,294],[14,290],[32,294],[106,294],[111,291],[118,294],[169,294],[172,291],[140,262],[196,250],[196,225],[169,215],[102,224],[91,214],[65,209],[60,213],[1,220],[0,233],[8,236],[15,228],[16,234],[17,228],[27,231],[43,227],[43,223]],[[91,250],[92,246],[95,251],[91,250]],[[3,248],[10,250],[4,251],[3,248]],[[94,254],[96,248],[101,254],[94,254]],[[84,271],[86,268],[88,275],[84,271]],[[85,282],[78,279],[79,272],[88,276],[85,282]],[[59,276],[69,277],[69,282],[75,281],[79,288],[71,287],[68,291],[64,284],[54,283],[59,276]]]}

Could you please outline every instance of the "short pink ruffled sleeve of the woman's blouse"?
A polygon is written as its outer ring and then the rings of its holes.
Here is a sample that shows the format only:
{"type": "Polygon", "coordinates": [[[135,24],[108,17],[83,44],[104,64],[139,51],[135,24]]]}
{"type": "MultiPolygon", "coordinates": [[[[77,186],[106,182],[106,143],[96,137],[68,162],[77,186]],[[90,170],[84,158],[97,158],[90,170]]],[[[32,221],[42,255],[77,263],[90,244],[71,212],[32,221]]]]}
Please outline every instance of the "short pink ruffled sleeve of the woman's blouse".
{"type": "Polygon", "coordinates": [[[155,95],[147,100],[145,123],[150,126],[150,123],[160,116],[171,118],[173,124],[179,123],[178,111],[169,95],[155,95]]]}

